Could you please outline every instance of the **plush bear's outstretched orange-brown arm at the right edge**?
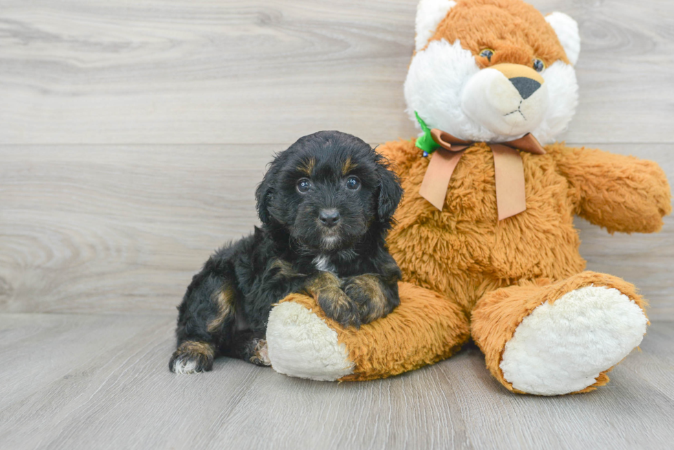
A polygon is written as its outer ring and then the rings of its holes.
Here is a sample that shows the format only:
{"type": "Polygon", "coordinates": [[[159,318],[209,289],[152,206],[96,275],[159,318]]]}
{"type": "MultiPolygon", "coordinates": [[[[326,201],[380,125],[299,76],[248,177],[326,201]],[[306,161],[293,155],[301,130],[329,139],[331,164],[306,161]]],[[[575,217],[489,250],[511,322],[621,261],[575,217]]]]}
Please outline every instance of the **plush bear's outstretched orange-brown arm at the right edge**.
{"type": "Polygon", "coordinates": [[[569,180],[576,214],[610,233],[657,232],[672,210],[667,178],[653,161],[562,144],[545,150],[569,180]]]}

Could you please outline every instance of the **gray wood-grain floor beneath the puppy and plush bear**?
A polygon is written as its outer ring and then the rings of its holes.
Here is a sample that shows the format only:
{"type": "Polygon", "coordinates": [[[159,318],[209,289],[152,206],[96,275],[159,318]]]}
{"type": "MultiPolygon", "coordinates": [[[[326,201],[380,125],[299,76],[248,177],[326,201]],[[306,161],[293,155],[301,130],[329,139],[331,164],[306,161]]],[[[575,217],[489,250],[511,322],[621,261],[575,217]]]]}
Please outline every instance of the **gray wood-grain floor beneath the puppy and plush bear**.
{"type": "Polygon", "coordinates": [[[175,376],[172,322],[0,315],[0,333],[12,335],[0,355],[20,368],[0,370],[10,398],[0,403],[2,448],[665,449],[674,438],[670,322],[650,327],[606,387],[552,398],[503,389],[475,346],[365,383],[291,379],[231,359],[175,376]]]}

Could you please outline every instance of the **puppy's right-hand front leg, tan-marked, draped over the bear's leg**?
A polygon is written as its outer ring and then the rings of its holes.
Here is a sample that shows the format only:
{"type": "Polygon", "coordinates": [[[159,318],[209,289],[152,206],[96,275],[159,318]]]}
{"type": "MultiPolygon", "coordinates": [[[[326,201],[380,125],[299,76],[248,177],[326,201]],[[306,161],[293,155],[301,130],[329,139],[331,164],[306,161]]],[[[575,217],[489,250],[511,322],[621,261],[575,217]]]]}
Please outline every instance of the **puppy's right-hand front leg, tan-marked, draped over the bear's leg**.
{"type": "Polygon", "coordinates": [[[362,324],[388,315],[400,304],[398,282],[386,282],[381,275],[374,273],[347,278],[343,289],[358,304],[362,324]]]}

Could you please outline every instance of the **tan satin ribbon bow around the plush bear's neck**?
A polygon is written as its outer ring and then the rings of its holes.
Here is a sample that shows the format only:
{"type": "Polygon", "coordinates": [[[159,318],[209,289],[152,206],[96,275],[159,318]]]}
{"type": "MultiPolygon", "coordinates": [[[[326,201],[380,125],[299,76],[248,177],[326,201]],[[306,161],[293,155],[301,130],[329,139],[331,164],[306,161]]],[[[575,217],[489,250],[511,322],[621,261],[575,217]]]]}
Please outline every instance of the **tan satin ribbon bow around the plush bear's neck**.
{"type": "MultiPolygon", "coordinates": [[[[442,211],[452,173],[464,155],[464,150],[474,142],[464,141],[437,128],[431,129],[431,135],[441,148],[431,155],[419,194],[442,211]]],[[[534,155],[545,155],[545,150],[531,133],[512,141],[488,145],[494,153],[496,203],[499,221],[502,221],[527,209],[524,166],[519,150],[534,155]]]]}

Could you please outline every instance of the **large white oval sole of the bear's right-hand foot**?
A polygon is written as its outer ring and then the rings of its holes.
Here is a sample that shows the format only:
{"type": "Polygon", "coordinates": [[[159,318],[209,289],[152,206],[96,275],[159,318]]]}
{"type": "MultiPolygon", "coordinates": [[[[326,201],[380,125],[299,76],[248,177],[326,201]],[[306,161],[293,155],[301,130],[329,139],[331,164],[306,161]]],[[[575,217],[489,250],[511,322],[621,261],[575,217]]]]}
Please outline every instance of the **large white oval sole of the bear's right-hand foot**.
{"type": "Polygon", "coordinates": [[[503,351],[503,376],[529,394],[582,390],[641,343],[646,322],[618,289],[576,289],[541,304],[517,326],[503,351]]]}

